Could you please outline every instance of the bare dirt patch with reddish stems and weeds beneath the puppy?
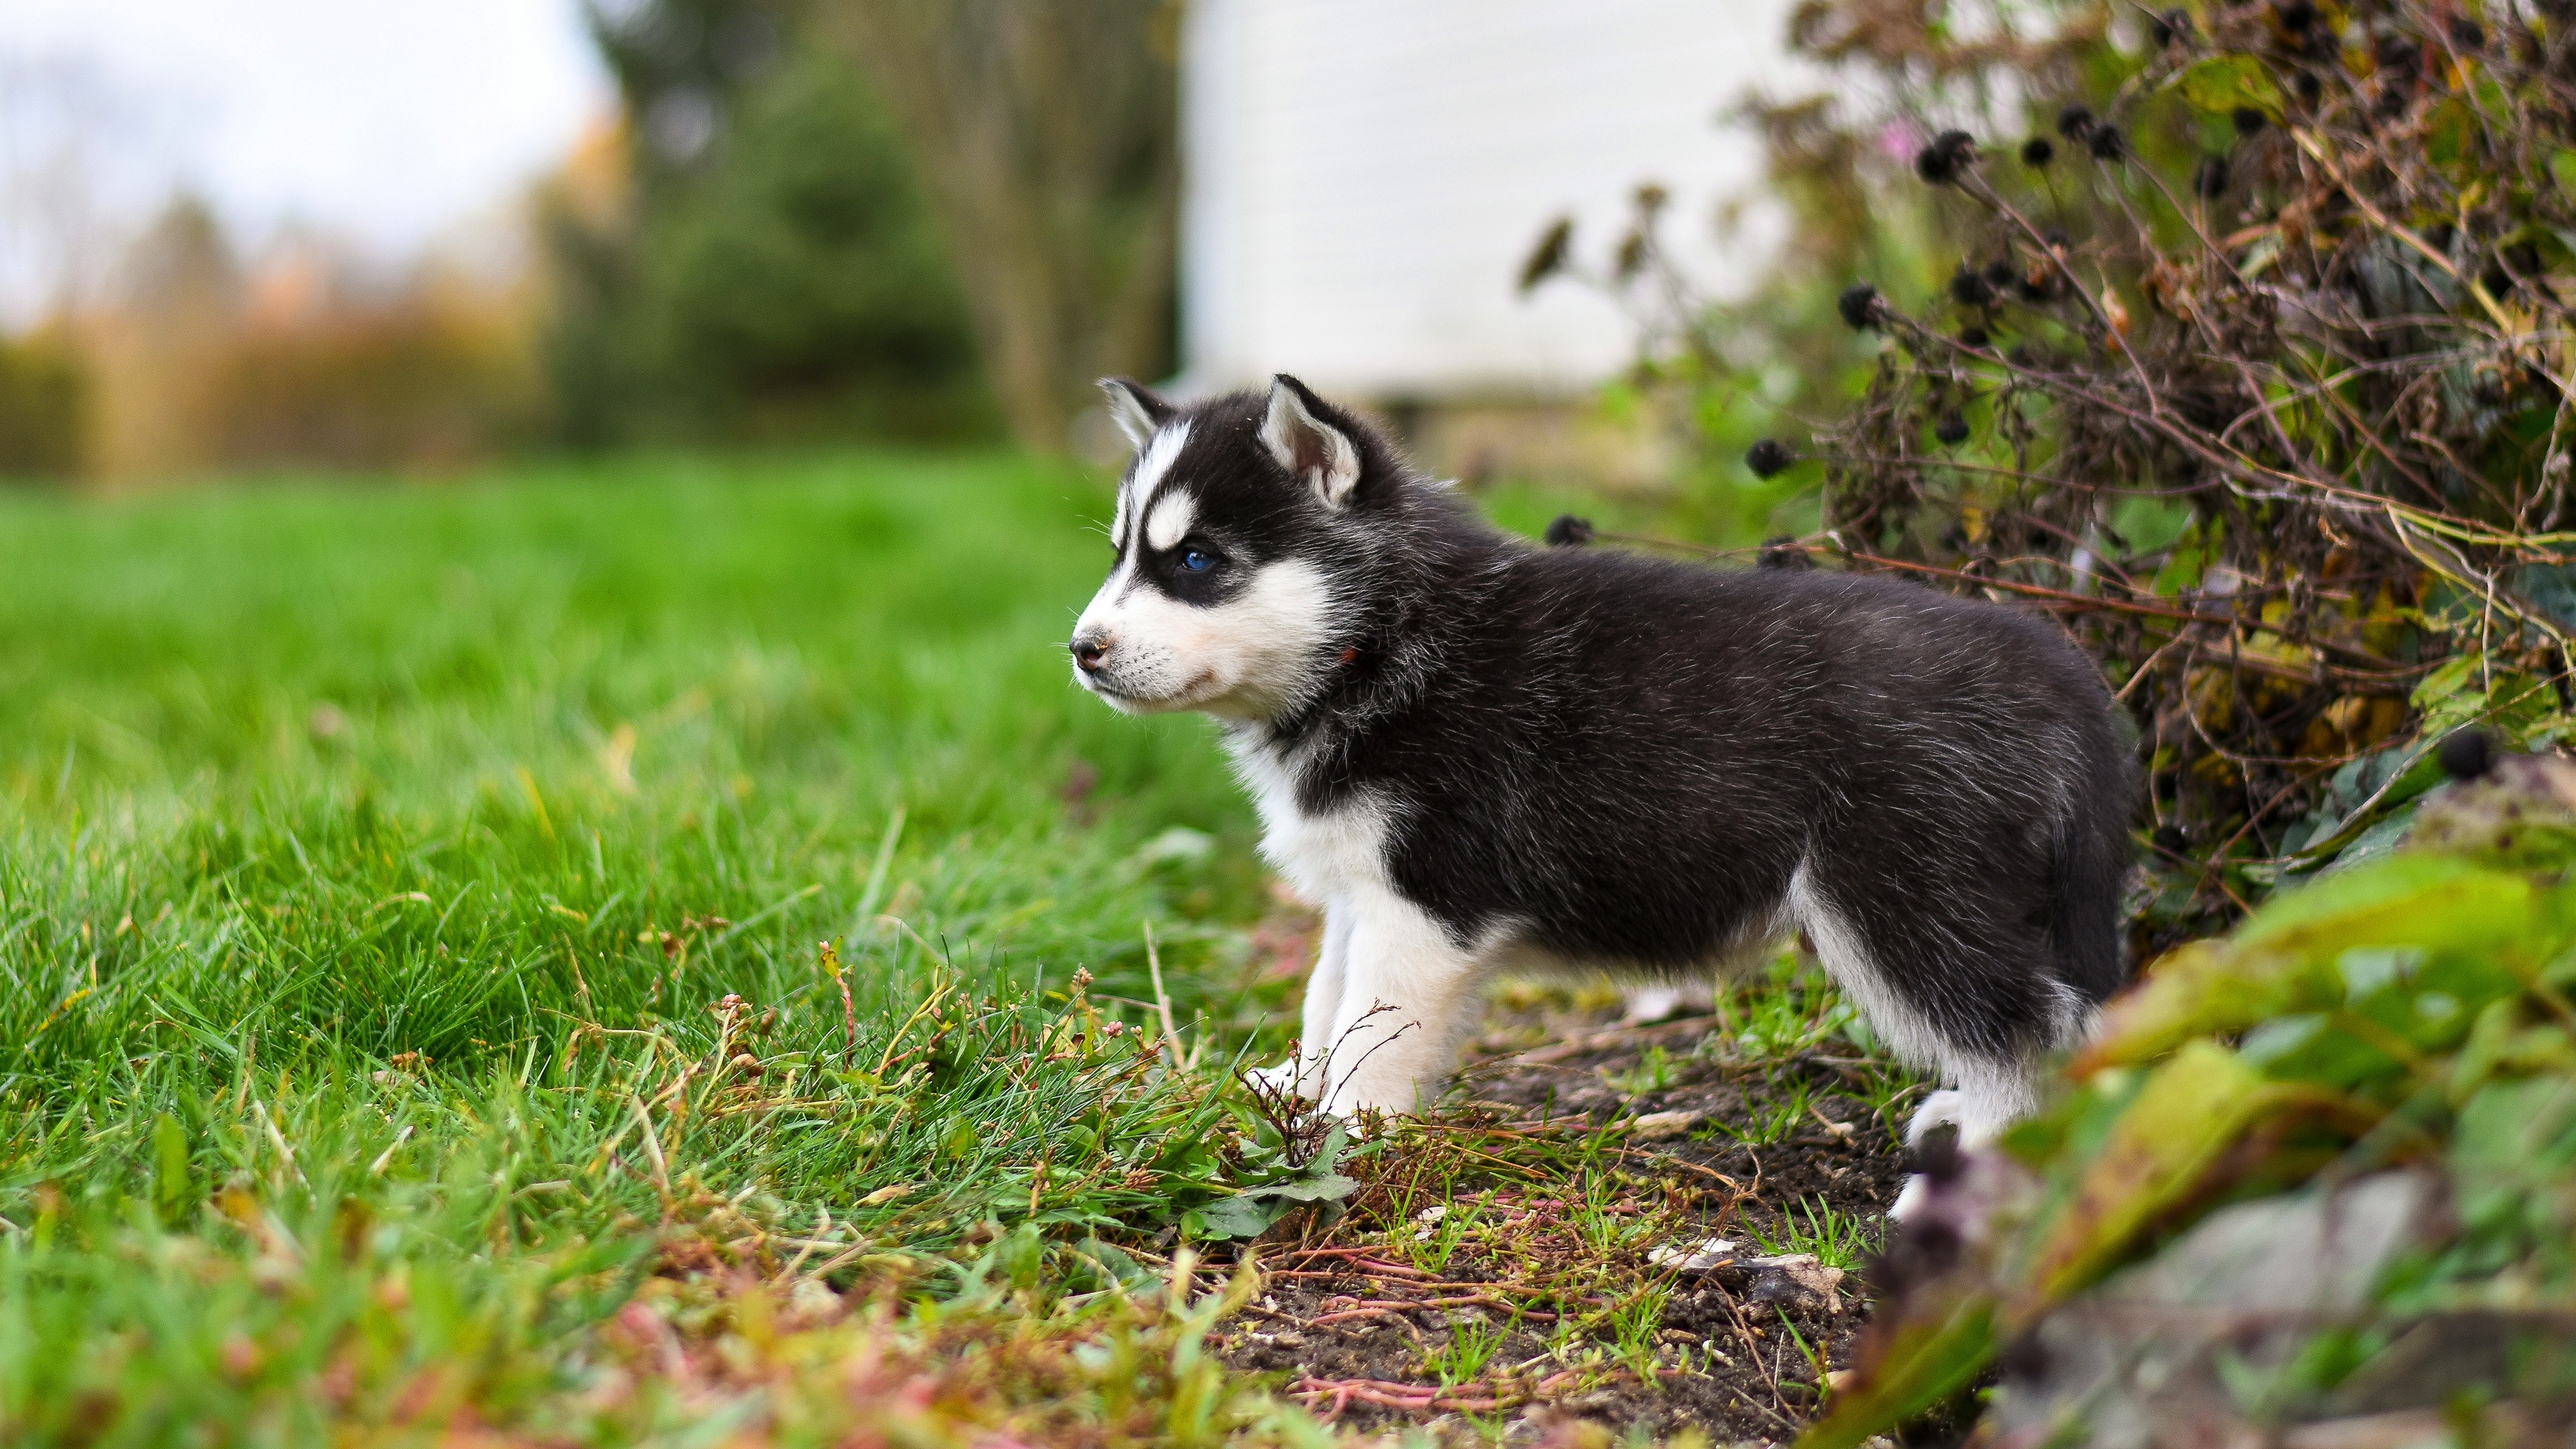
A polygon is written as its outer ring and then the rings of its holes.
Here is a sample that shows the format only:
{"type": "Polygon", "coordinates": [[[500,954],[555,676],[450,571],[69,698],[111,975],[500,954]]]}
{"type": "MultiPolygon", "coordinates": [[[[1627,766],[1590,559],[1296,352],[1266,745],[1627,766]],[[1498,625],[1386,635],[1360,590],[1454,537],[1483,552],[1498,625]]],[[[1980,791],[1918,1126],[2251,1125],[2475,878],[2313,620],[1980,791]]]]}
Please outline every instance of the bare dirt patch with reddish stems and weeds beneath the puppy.
{"type": "Polygon", "coordinates": [[[1873,1098],[1893,1111],[1899,1078],[1839,1042],[1759,1062],[1726,1042],[1716,1016],[1497,1011],[1445,1111],[1352,1165],[1347,1214],[1252,1248],[1265,1297],[1221,1356],[1355,1428],[1793,1439],[1816,1359],[1844,1366],[1862,1323],[1904,1181],[1873,1098]],[[1757,1263],[1819,1225],[1839,1284],[1757,1263]]]}

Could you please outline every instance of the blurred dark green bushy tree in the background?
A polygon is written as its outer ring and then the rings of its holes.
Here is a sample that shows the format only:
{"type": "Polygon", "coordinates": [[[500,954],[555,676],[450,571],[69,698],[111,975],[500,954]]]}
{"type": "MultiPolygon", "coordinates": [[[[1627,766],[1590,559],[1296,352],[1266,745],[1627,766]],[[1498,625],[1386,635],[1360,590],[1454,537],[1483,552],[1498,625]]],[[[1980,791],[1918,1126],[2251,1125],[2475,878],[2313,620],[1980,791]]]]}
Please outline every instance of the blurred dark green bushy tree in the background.
{"type": "Polygon", "coordinates": [[[904,142],[793,18],[773,0],[592,10],[623,186],[567,173],[544,206],[574,443],[992,431],[904,142]]]}

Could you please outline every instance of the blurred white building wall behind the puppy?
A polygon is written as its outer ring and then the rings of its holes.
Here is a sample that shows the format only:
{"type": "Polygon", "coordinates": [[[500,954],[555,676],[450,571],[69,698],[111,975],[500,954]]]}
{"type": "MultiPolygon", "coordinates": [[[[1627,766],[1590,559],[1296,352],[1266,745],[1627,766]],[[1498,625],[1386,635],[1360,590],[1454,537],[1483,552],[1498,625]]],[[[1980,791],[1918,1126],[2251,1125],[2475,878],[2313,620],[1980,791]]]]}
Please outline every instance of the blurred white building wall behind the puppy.
{"type": "MultiPolygon", "coordinates": [[[[1690,271],[1759,178],[1718,116],[1783,75],[1788,0],[1193,0],[1182,41],[1188,387],[1273,371],[1370,397],[1553,397],[1633,351],[1618,304],[1517,297],[1574,211],[1605,263],[1643,180],[1690,271]]],[[[1759,232],[1759,227],[1754,229],[1759,232]]],[[[1731,263],[1731,266],[1728,266],[1731,263]]]]}

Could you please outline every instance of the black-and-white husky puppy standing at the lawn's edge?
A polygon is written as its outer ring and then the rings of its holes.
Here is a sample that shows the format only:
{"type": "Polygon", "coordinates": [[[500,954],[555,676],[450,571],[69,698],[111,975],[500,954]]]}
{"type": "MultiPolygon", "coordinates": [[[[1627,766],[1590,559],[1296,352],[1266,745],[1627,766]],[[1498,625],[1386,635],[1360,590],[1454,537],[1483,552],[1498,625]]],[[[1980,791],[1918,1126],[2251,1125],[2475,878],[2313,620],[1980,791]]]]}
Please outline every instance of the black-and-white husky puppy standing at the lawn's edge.
{"type": "Polygon", "coordinates": [[[1074,678],[1200,709],[1324,910],[1329,1111],[1440,1096],[1507,969],[1687,977],[1798,928],[1981,1142],[2123,985],[2133,750],[2050,621],[1886,578],[1540,549],[1291,376],[1136,443],[1074,678]]]}

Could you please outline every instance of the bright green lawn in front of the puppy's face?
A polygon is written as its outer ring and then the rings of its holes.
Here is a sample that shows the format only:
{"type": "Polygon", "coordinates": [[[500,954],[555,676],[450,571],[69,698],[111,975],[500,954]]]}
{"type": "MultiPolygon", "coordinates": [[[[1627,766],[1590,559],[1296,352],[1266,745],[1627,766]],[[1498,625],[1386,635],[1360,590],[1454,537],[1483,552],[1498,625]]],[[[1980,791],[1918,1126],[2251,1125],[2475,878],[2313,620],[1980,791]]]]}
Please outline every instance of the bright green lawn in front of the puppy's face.
{"type": "Polygon", "coordinates": [[[1043,1279],[1170,1369],[1110,1439],[1239,1426],[1082,1250],[1226,1147],[1103,1031],[1146,923],[1211,1060],[1275,1008],[1208,727],[1064,678],[1105,516],[904,456],[0,498],[0,1439],[829,1441],[618,1366],[791,1341],[822,1266],[914,1325],[1043,1279]],[[636,1297],[675,1261],[739,1292],[636,1297]]]}

